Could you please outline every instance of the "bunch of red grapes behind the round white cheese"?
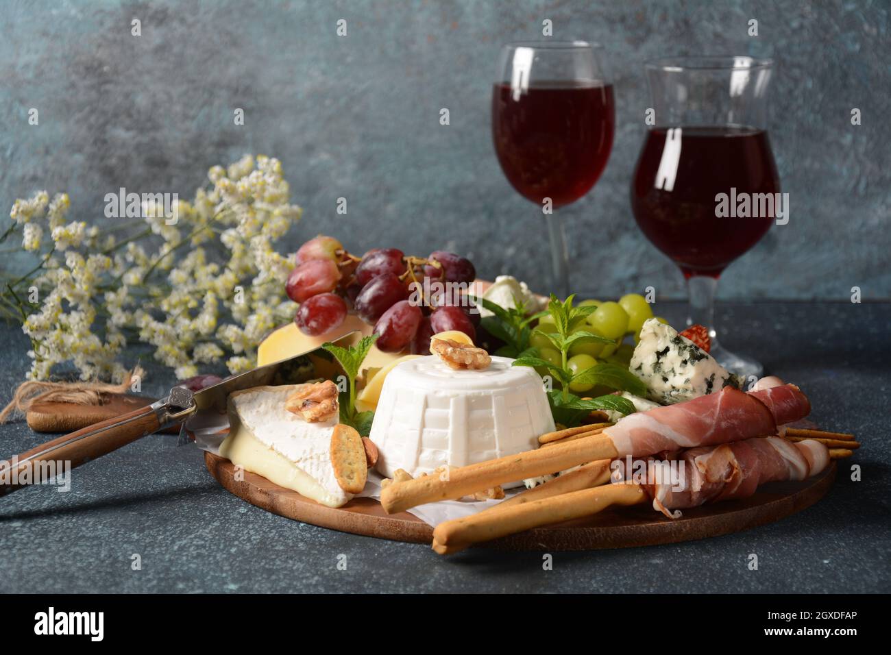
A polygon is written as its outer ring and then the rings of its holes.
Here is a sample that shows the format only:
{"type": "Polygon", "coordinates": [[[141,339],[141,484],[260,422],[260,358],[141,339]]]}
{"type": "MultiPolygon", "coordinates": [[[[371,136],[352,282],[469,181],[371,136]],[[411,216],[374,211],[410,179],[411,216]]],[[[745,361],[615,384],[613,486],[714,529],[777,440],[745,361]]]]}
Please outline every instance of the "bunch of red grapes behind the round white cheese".
{"type": "Polygon", "coordinates": [[[467,299],[430,293],[417,302],[412,293],[413,283],[424,290],[431,282],[473,282],[473,264],[454,252],[435,250],[424,259],[406,257],[396,248],[375,248],[357,258],[337,239],[320,235],[300,246],[296,264],[285,291],[300,304],[294,323],[301,332],[331,332],[344,322],[351,305],[365,323],[374,324],[377,346],[385,352],[411,348],[426,355],[430,337],[447,330],[476,339],[479,313],[467,299]]]}

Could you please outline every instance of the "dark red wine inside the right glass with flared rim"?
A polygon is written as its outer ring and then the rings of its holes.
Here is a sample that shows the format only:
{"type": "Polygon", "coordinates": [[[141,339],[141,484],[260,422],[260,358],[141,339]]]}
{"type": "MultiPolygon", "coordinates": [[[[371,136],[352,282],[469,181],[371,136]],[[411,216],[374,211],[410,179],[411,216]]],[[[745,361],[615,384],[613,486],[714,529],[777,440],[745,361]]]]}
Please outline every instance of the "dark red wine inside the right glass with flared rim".
{"type": "Polygon", "coordinates": [[[660,127],[643,143],[631,187],[634,217],[686,277],[717,277],[773,224],[761,217],[716,217],[715,196],[780,192],[767,133],[754,127],[660,127]]]}

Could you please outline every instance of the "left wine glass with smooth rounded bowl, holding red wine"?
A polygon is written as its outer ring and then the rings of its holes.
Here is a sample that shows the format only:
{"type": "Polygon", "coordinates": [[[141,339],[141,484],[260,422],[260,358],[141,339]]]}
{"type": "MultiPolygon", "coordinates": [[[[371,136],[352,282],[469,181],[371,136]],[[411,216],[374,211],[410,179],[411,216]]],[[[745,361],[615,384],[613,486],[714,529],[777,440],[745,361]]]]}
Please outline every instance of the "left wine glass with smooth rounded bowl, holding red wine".
{"type": "Polygon", "coordinates": [[[505,45],[492,92],[492,139],[508,181],[544,211],[553,291],[569,292],[560,214],[547,211],[591,191],[612,149],[616,111],[601,45],[585,41],[505,45]]]}

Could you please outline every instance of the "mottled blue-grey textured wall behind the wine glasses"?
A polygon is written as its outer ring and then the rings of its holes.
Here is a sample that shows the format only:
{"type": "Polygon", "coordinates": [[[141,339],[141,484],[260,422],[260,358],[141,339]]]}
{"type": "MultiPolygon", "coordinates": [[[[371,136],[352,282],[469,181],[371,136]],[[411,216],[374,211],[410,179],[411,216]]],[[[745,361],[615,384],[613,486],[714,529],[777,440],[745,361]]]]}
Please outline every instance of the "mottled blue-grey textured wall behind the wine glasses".
{"type": "MultiPolygon", "coordinates": [[[[351,250],[468,252],[485,276],[546,288],[540,210],[504,179],[489,135],[503,42],[600,41],[617,135],[594,191],[565,209],[579,286],[682,295],[639,233],[629,178],[649,105],[642,61],[744,53],[777,61],[772,143],[791,221],[733,265],[724,297],[891,297],[891,45],[887,2],[11,2],[0,0],[0,201],[67,190],[101,217],[129,190],[191,197],[242,152],[279,157],[318,232],[351,250]],[[143,36],[130,34],[142,20],[143,36]],[[347,20],[347,37],[335,23],[347,20]],[[759,36],[747,22],[758,20],[759,36]],[[28,109],[40,112],[29,127],[28,109]],[[243,127],[233,109],[246,111],[243,127]],[[451,112],[441,127],[438,111],[451,112]],[[850,111],[862,111],[862,126],[850,111]],[[347,217],[335,213],[339,196],[347,217]]],[[[20,264],[21,262],[19,262],[20,264]]]]}

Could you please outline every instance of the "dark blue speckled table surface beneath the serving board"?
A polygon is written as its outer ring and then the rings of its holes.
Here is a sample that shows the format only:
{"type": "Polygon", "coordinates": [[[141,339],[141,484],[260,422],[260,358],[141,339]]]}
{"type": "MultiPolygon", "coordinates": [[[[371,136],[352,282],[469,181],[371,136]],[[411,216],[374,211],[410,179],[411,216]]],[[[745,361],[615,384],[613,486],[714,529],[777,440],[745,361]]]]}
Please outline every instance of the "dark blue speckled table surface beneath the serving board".
{"type": "MultiPolygon", "coordinates": [[[[197,448],[155,435],[74,471],[69,493],[34,487],[0,498],[0,592],[891,591],[891,305],[731,303],[721,311],[725,345],[796,382],[814,421],[863,443],[829,494],[788,519],[697,542],[552,553],[552,570],[543,553],[445,558],[264,512],[219,487],[197,448]],[[748,569],[750,553],[757,570],[748,569]]],[[[658,313],[677,324],[683,308],[658,313]]],[[[5,403],[28,369],[29,344],[3,324],[0,342],[5,403]]],[[[148,368],[143,392],[160,396],[169,374],[148,368]]],[[[23,421],[0,426],[0,456],[47,438],[23,421]]]]}

